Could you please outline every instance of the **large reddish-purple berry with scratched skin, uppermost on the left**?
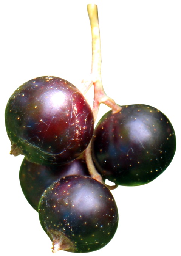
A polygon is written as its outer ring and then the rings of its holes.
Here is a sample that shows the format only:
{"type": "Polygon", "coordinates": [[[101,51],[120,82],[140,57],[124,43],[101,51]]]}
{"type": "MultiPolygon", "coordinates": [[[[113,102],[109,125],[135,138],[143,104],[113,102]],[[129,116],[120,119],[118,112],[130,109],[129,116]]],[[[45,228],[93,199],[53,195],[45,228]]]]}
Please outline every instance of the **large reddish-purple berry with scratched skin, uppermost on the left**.
{"type": "Polygon", "coordinates": [[[35,77],[9,97],[5,127],[11,144],[29,161],[61,165],[87,148],[93,135],[93,112],[72,83],[56,76],[35,77]]]}

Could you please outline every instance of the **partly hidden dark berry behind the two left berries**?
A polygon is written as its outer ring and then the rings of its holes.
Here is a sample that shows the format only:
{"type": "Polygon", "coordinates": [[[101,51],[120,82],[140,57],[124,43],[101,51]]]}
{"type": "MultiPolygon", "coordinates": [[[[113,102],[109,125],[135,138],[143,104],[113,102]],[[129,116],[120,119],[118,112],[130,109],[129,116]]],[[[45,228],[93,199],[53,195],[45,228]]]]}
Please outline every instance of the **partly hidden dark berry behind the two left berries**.
{"type": "Polygon", "coordinates": [[[24,157],[19,169],[19,182],[26,200],[38,212],[38,204],[46,188],[62,177],[73,174],[89,176],[84,160],[75,159],[61,166],[45,166],[29,162],[24,157]]]}

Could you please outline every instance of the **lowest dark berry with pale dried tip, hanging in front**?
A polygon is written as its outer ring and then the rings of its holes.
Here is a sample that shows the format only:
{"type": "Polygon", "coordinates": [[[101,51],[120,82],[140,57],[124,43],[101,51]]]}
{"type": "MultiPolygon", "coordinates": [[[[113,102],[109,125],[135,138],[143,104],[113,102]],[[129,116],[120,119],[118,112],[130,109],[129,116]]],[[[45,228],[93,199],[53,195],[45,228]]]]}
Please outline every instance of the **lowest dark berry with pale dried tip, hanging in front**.
{"type": "Polygon", "coordinates": [[[66,176],[52,184],[39,203],[40,225],[59,250],[90,253],[105,247],[118,229],[113,194],[88,176],[66,176]]]}

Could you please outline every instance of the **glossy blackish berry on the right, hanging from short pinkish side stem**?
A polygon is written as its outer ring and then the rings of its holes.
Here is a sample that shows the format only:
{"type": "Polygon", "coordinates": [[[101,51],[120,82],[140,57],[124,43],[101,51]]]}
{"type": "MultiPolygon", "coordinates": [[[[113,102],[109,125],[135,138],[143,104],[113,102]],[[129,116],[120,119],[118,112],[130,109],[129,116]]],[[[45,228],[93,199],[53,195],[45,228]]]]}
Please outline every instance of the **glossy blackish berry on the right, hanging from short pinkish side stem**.
{"type": "Polygon", "coordinates": [[[170,165],[176,152],[176,134],[169,118],[145,104],[123,105],[99,120],[92,140],[97,170],[117,185],[148,184],[170,165]]]}

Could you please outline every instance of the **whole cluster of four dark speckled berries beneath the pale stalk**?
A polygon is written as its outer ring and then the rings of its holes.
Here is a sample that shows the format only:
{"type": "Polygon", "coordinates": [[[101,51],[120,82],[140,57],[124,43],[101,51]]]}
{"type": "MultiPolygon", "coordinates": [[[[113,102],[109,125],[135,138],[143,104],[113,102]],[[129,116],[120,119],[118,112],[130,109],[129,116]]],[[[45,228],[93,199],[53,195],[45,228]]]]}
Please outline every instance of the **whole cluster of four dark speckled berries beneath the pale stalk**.
{"type": "Polygon", "coordinates": [[[85,95],[56,76],[20,85],[6,104],[5,127],[10,154],[25,156],[20,186],[38,212],[52,253],[91,253],[104,248],[117,232],[114,196],[103,180],[93,178],[85,162],[89,144],[97,174],[124,187],[155,180],[176,152],[173,125],[157,108],[123,105],[117,113],[105,113],[94,129],[85,95]]]}

